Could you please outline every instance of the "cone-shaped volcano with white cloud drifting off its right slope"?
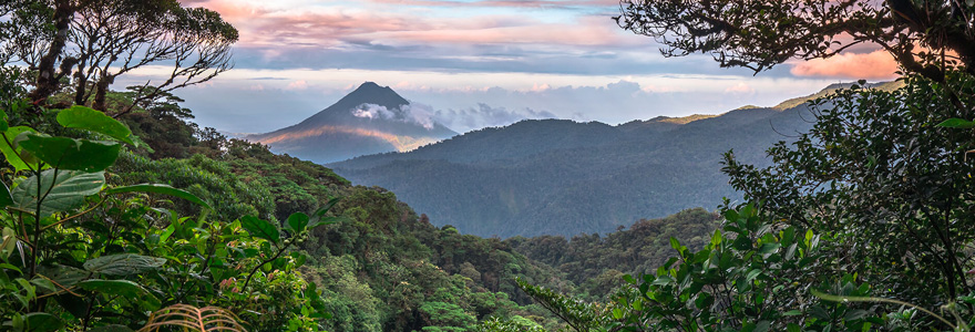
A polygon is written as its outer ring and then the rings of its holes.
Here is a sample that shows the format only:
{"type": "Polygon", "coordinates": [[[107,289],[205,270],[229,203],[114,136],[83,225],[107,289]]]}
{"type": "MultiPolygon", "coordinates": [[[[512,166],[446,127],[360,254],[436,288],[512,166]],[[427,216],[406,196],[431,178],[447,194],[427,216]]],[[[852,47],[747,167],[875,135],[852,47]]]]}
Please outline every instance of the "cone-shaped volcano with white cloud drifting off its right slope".
{"type": "Polygon", "coordinates": [[[411,112],[410,102],[389,86],[366,82],[333,105],[300,123],[246,139],[315,163],[408,152],[456,135],[411,112]]]}

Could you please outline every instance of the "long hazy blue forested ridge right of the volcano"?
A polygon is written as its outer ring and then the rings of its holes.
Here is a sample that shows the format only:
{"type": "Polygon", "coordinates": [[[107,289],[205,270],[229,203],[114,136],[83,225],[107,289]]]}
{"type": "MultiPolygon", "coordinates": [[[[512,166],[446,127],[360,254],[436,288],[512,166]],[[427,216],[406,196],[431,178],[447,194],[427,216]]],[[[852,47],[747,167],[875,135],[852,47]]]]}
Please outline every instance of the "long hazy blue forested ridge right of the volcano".
{"type": "Polygon", "coordinates": [[[812,126],[804,102],[848,85],[717,116],[617,126],[522,121],[327,166],[352,183],[388,188],[433,222],[464,234],[606,234],[642,218],[714,209],[723,197],[739,198],[721,174],[722,154],[733,149],[742,162],[768,165],[766,149],[812,126]]]}

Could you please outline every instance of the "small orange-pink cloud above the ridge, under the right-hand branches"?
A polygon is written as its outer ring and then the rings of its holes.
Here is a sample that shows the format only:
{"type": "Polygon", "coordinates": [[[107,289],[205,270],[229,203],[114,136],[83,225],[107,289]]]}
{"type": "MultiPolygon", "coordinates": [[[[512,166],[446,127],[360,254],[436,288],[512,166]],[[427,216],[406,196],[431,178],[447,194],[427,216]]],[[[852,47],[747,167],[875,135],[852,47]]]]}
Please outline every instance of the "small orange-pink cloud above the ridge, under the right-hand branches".
{"type": "Polygon", "coordinates": [[[797,76],[839,77],[850,80],[891,80],[897,75],[897,62],[890,53],[843,53],[829,59],[813,59],[796,64],[797,76]]]}

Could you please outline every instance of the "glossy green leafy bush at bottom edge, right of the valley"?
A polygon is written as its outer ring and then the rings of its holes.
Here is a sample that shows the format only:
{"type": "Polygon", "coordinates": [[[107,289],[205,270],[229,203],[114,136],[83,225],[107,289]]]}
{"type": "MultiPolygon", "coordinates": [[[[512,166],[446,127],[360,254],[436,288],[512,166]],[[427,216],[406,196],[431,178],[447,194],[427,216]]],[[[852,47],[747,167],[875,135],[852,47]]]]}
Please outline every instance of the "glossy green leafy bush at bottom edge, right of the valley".
{"type": "Polygon", "coordinates": [[[747,205],[726,209],[726,221],[700,251],[671,239],[679,255],[656,274],[626,277],[638,291],[616,299],[610,326],[626,331],[866,331],[883,320],[871,312],[811,301],[810,288],[833,284],[844,295],[869,292],[851,274],[819,276],[829,257],[821,235],[776,225],[747,205]],[[723,231],[722,231],[723,230],[723,231]],[[838,278],[834,282],[831,279],[838,278]],[[825,283],[825,284],[820,284],[825,283]]]}

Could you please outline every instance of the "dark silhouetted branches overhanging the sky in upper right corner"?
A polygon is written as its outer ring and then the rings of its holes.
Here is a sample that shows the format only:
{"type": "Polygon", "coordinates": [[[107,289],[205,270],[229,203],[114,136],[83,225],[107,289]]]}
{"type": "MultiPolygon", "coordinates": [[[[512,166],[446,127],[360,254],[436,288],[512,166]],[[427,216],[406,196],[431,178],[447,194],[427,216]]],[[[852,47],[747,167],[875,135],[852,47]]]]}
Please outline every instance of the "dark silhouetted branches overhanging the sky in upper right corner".
{"type": "MultiPolygon", "coordinates": [[[[789,59],[829,58],[860,44],[909,73],[945,83],[953,66],[975,74],[975,3],[961,0],[622,0],[616,21],[653,37],[666,56],[701,52],[756,73],[789,59]]],[[[953,104],[972,105],[950,89],[953,104]]]]}

